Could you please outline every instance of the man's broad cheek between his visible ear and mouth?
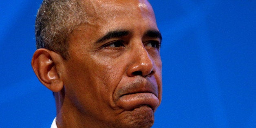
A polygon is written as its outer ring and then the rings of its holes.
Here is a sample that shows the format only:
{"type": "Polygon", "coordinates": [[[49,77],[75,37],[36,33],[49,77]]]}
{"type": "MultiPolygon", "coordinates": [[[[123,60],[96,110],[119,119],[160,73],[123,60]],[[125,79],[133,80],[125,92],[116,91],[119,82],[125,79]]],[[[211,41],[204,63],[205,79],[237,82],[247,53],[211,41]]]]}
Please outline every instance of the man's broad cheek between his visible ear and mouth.
{"type": "Polygon", "coordinates": [[[83,113],[98,113],[99,117],[108,117],[113,114],[110,113],[115,107],[113,92],[122,79],[124,66],[106,60],[86,61],[90,63],[81,61],[68,66],[66,98],[83,113]]]}

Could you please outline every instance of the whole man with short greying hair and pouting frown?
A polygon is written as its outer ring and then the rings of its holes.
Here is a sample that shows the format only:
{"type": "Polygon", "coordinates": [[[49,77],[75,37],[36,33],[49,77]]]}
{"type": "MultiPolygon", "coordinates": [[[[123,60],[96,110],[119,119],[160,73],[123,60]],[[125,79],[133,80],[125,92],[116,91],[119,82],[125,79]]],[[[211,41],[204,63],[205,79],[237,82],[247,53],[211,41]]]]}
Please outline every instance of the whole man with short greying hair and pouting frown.
{"type": "Polygon", "coordinates": [[[161,34],[147,0],[44,0],[35,74],[54,92],[52,127],[151,127],[162,97],[161,34]]]}

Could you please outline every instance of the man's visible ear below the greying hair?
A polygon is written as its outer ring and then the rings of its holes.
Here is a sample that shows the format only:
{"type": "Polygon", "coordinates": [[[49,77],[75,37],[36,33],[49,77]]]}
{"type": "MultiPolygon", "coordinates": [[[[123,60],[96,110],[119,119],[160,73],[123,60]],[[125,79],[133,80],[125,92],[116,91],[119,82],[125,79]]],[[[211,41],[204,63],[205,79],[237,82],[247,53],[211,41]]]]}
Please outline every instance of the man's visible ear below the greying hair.
{"type": "Polygon", "coordinates": [[[47,49],[38,49],[35,51],[31,65],[40,82],[53,92],[62,90],[64,84],[59,75],[59,69],[62,64],[62,57],[53,51],[47,49]]]}

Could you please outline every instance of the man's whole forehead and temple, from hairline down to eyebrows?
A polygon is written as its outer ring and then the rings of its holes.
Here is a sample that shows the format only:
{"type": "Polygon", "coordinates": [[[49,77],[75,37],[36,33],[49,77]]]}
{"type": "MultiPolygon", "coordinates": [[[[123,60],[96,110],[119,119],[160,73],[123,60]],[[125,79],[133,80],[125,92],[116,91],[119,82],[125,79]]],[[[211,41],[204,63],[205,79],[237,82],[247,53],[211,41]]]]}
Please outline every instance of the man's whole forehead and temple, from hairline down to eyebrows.
{"type": "Polygon", "coordinates": [[[71,33],[68,42],[89,45],[106,33],[127,30],[143,35],[148,30],[158,30],[153,9],[147,0],[84,0],[86,21],[71,33]]]}

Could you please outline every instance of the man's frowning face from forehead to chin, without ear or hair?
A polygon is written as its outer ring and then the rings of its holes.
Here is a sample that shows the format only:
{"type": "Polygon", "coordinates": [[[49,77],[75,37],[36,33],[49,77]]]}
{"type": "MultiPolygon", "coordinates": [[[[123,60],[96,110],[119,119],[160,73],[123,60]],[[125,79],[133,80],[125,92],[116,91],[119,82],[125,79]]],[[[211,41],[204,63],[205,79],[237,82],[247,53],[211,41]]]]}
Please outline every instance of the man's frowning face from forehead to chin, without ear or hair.
{"type": "Polygon", "coordinates": [[[68,37],[65,113],[106,126],[152,126],[161,102],[158,31],[146,0],[90,2],[88,21],[68,37]]]}

